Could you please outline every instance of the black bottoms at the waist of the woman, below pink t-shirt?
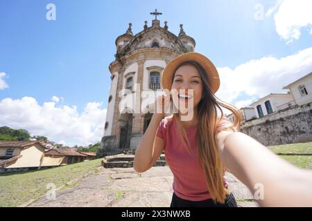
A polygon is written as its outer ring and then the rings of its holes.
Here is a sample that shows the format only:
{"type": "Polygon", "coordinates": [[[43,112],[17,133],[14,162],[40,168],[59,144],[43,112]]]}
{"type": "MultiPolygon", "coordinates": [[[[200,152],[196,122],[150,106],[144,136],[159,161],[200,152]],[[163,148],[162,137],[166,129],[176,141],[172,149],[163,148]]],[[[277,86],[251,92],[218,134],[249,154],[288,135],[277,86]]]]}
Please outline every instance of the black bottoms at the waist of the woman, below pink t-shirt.
{"type": "Polygon", "coordinates": [[[212,199],[202,201],[191,201],[179,198],[175,193],[172,195],[170,207],[238,207],[233,193],[227,195],[225,203],[215,202],[212,199]]]}

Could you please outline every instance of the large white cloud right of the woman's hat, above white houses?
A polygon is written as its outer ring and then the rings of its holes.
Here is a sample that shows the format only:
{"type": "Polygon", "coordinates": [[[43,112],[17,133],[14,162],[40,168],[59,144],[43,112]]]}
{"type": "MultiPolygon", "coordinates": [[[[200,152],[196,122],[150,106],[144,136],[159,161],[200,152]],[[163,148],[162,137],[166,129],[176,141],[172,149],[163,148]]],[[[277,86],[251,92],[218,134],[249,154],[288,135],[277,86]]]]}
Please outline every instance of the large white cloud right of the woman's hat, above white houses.
{"type": "Polygon", "coordinates": [[[263,97],[270,93],[286,93],[287,90],[282,89],[284,86],[311,71],[312,48],[280,59],[263,57],[251,60],[234,69],[218,68],[220,89],[216,96],[232,103],[242,93],[252,97],[248,99],[263,97]]]}

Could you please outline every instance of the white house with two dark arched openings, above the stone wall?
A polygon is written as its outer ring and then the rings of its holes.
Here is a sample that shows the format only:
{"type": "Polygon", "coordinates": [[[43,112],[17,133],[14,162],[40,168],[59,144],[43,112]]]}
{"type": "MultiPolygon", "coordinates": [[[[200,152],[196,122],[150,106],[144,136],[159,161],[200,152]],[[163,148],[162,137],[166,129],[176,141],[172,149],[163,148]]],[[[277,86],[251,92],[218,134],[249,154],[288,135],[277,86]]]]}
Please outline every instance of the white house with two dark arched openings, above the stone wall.
{"type": "Polygon", "coordinates": [[[291,93],[270,93],[270,95],[266,95],[266,97],[262,97],[261,99],[257,100],[257,102],[251,104],[251,106],[254,108],[257,118],[270,115],[294,105],[295,102],[293,101],[293,95],[291,95],[291,93]]]}

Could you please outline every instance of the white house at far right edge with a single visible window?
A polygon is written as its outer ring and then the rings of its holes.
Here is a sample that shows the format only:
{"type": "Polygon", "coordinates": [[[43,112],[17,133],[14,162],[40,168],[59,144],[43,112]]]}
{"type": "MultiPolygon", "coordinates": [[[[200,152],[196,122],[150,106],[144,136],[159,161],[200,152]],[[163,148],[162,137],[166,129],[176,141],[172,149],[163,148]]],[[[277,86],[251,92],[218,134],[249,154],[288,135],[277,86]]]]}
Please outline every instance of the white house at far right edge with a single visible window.
{"type": "Polygon", "coordinates": [[[312,73],[293,81],[293,83],[284,86],[283,89],[291,90],[293,100],[297,105],[308,104],[312,102],[312,73]]]}

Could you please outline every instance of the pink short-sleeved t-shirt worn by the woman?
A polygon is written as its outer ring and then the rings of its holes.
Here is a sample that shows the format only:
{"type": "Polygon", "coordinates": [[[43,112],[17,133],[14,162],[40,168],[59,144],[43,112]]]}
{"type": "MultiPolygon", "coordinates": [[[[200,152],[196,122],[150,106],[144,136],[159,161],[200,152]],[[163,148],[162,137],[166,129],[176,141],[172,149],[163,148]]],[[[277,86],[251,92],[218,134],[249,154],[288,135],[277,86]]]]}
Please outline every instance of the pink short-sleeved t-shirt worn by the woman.
{"type": "MultiPolygon", "coordinates": [[[[210,199],[211,195],[207,189],[205,172],[200,167],[197,159],[197,125],[185,129],[191,153],[193,153],[193,156],[191,156],[180,139],[176,124],[174,119],[165,117],[160,122],[156,134],[157,137],[164,140],[166,162],[173,173],[173,191],[184,200],[201,201],[210,199]]],[[[229,124],[229,122],[223,120],[219,124],[220,128],[225,124],[229,124]]],[[[225,177],[224,184],[225,188],[227,188],[225,177]]]]}

